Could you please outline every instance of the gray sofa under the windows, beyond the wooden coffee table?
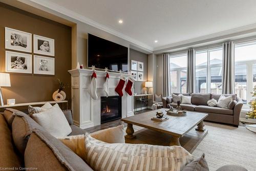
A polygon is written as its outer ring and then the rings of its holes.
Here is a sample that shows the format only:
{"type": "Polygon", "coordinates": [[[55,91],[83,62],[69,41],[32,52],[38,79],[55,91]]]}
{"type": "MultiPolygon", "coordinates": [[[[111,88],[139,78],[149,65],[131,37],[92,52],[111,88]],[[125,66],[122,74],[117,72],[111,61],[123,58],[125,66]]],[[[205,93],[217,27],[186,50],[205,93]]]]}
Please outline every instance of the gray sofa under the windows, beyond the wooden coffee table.
{"type": "MultiPolygon", "coordinates": [[[[179,95],[180,93],[173,93],[175,95],[179,95]]],[[[217,94],[203,94],[203,93],[183,93],[184,96],[191,96],[192,104],[181,104],[182,110],[194,111],[207,113],[208,116],[205,120],[215,121],[221,123],[228,123],[234,126],[239,125],[240,113],[243,106],[243,101],[241,98],[237,97],[236,94],[224,94],[224,96],[232,96],[233,100],[237,101],[237,104],[233,109],[223,109],[218,107],[208,106],[207,101],[210,99],[216,99],[217,101],[220,98],[220,95],[217,94]]],[[[164,97],[162,98],[163,108],[173,108],[177,107],[177,103],[172,101],[172,97],[164,97]]]]}

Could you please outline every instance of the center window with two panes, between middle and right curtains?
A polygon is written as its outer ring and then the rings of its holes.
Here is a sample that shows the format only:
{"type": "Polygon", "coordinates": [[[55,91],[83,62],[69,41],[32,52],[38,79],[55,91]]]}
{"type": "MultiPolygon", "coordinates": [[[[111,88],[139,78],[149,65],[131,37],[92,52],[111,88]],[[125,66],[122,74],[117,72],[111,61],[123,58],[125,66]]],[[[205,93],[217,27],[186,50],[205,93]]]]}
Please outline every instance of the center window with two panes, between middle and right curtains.
{"type": "Polygon", "coordinates": [[[196,51],[196,93],[222,93],[222,47],[196,51]]]}

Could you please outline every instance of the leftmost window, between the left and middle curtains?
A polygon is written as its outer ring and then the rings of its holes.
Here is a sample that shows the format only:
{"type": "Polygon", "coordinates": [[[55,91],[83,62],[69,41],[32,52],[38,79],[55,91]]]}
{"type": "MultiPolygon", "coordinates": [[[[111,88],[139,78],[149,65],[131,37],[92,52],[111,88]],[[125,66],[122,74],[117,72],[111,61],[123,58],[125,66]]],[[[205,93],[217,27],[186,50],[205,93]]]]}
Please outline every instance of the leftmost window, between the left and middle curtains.
{"type": "Polygon", "coordinates": [[[170,55],[170,92],[186,93],[187,53],[170,55]]]}

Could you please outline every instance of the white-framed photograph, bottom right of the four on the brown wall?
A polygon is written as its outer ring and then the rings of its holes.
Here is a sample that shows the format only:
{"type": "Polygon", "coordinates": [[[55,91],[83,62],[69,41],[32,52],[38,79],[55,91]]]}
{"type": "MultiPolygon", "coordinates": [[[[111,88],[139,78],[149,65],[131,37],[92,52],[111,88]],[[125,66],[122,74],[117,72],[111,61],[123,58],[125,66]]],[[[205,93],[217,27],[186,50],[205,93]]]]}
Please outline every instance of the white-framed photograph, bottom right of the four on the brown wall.
{"type": "Polygon", "coordinates": [[[54,58],[34,55],[34,74],[55,74],[54,58]]]}

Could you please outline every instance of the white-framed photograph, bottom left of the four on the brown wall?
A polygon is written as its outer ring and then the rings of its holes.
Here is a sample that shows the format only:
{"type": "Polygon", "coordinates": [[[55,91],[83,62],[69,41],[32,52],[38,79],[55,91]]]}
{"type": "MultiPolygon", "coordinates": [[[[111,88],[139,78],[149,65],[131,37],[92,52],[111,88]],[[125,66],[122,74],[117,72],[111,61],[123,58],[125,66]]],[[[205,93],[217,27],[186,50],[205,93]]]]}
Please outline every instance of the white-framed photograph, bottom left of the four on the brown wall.
{"type": "Polygon", "coordinates": [[[18,52],[5,52],[5,71],[32,73],[32,55],[18,52]]]}

